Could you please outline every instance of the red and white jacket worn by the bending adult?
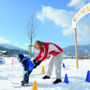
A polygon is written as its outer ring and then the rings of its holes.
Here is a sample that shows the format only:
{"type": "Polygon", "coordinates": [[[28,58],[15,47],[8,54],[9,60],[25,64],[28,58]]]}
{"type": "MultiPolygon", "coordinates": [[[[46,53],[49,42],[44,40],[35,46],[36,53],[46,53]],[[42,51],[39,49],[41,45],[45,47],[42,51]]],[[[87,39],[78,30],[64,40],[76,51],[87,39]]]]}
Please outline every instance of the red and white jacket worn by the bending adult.
{"type": "Polygon", "coordinates": [[[43,42],[42,48],[38,54],[38,56],[35,58],[36,61],[44,61],[48,55],[56,56],[60,53],[62,53],[63,50],[58,45],[48,42],[43,42]]]}

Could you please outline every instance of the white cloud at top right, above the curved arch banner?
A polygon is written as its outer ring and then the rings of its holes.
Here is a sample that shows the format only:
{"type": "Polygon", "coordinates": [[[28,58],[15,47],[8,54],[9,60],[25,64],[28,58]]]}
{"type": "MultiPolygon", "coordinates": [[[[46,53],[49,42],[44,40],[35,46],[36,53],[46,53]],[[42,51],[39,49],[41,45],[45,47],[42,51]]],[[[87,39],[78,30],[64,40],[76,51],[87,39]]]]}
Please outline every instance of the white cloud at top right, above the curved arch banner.
{"type": "Polygon", "coordinates": [[[69,7],[74,7],[76,9],[80,9],[88,2],[90,2],[90,0],[71,0],[68,3],[68,6],[69,7]]]}

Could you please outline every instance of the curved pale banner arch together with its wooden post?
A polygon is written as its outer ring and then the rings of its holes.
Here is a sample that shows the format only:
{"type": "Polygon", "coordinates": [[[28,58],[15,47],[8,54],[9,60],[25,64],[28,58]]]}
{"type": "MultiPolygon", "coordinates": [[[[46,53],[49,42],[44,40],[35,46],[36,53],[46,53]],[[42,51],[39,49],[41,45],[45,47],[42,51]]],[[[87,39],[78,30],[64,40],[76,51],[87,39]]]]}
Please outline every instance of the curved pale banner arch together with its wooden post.
{"type": "Polygon", "coordinates": [[[84,17],[88,13],[90,13],[90,3],[88,3],[83,8],[81,8],[80,11],[75,15],[75,17],[72,20],[72,25],[73,25],[74,32],[75,32],[76,68],[78,68],[78,48],[77,48],[77,27],[76,27],[76,24],[82,17],[84,17]]]}

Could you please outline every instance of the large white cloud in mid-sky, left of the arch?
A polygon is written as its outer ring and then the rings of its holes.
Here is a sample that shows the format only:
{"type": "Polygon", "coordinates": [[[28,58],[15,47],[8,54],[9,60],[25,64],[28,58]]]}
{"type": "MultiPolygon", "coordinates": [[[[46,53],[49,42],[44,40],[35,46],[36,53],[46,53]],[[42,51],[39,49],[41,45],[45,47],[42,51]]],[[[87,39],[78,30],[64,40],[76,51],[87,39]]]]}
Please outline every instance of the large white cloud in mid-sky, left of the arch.
{"type": "Polygon", "coordinates": [[[75,13],[66,10],[54,9],[52,7],[42,7],[42,12],[37,14],[37,18],[45,22],[45,19],[53,21],[56,25],[63,28],[62,32],[64,35],[72,34],[72,18],[75,13]]]}

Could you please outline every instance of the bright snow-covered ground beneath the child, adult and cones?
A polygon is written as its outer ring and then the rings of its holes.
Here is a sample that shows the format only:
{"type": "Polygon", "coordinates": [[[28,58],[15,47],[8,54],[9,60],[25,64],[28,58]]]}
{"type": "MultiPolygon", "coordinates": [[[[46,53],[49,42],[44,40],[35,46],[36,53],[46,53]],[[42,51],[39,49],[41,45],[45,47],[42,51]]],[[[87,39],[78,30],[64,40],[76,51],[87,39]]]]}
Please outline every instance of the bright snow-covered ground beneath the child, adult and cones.
{"type": "MultiPolygon", "coordinates": [[[[14,67],[12,68],[12,57],[5,58],[6,64],[0,65],[0,90],[31,90],[30,87],[14,88],[13,82],[21,82],[22,80],[22,66],[14,59],[14,67]]],[[[68,74],[69,83],[64,82],[53,85],[55,74],[53,72],[51,79],[43,80],[41,74],[41,67],[44,65],[47,71],[49,60],[44,61],[37,69],[33,70],[30,76],[30,83],[37,81],[38,90],[90,90],[90,83],[85,82],[87,71],[90,70],[90,60],[80,60],[79,69],[76,69],[76,62],[74,59],[65,59],[63,63],[66,68],[62,68],[62,80],[64,81],[65,74],[68,74]]]]}

